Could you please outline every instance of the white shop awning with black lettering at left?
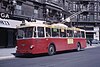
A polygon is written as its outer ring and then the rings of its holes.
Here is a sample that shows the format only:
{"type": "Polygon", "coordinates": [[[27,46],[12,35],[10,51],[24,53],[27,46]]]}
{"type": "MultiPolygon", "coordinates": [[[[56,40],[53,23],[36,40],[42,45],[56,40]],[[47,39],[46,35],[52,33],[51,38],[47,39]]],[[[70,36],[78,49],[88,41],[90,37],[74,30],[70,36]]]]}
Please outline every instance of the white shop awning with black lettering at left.
{"type": "Polygon", "coordinates": [[[3,28],[16,28],[21,23],[22,21],[0,18],[0,27],[3,27],[3,28]]]}

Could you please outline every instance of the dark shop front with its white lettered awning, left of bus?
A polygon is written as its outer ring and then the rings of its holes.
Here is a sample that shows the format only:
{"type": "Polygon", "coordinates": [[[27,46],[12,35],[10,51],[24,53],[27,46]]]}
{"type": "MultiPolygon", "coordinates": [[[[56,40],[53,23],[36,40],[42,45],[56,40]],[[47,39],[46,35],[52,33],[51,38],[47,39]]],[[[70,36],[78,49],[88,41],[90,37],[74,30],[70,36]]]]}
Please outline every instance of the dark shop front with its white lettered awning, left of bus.
{"type": "Polygon", "coordinates": [[[0,19],[0,48],[16,46],[16,26],[21,21],[0,19]]]}

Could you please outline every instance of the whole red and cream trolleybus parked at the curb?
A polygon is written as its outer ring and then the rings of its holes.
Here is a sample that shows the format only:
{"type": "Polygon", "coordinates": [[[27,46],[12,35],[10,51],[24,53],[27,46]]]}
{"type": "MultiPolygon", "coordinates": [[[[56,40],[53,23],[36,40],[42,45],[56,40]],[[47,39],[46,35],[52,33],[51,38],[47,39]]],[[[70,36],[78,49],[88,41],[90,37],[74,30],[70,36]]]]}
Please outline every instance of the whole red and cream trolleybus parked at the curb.
{"type": "Polygon", "coordinates": [[[80,51],[86,47],[85,30],[64,24],[22,23],[17,32],[17,53],[54,55],[58,51],[80,51]]]}

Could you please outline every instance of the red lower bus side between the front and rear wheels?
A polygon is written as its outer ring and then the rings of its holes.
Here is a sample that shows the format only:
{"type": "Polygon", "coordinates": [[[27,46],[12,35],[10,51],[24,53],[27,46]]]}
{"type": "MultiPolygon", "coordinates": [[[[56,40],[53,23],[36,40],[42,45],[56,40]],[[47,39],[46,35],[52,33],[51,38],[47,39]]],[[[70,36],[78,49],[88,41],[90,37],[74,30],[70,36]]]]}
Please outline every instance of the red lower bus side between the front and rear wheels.
{"type": "Polygon", "coordinates": [[[76,49],[76,42],[78,42],[78,40],[74,41],[73,38],[51,38],[49,42],[54,43],[56,51],[64,51],[76,49]],[[72,40],[73,42],[68,42],[68,39],[72,40]]]}

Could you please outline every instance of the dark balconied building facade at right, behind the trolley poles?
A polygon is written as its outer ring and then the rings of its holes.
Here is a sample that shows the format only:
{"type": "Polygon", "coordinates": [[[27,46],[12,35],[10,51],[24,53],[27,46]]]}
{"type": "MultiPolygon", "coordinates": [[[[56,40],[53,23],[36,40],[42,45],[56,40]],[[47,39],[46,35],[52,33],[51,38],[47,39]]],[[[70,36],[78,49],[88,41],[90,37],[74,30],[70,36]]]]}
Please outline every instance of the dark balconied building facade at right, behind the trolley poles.
{"type": "Polygon", "coordinates": [[[100,40],[100,1],[99,0],[70,0],[68,10],[74,14],[85,10],[72,19],[72,25],[86,30],[87,39],[100,40]]]}

